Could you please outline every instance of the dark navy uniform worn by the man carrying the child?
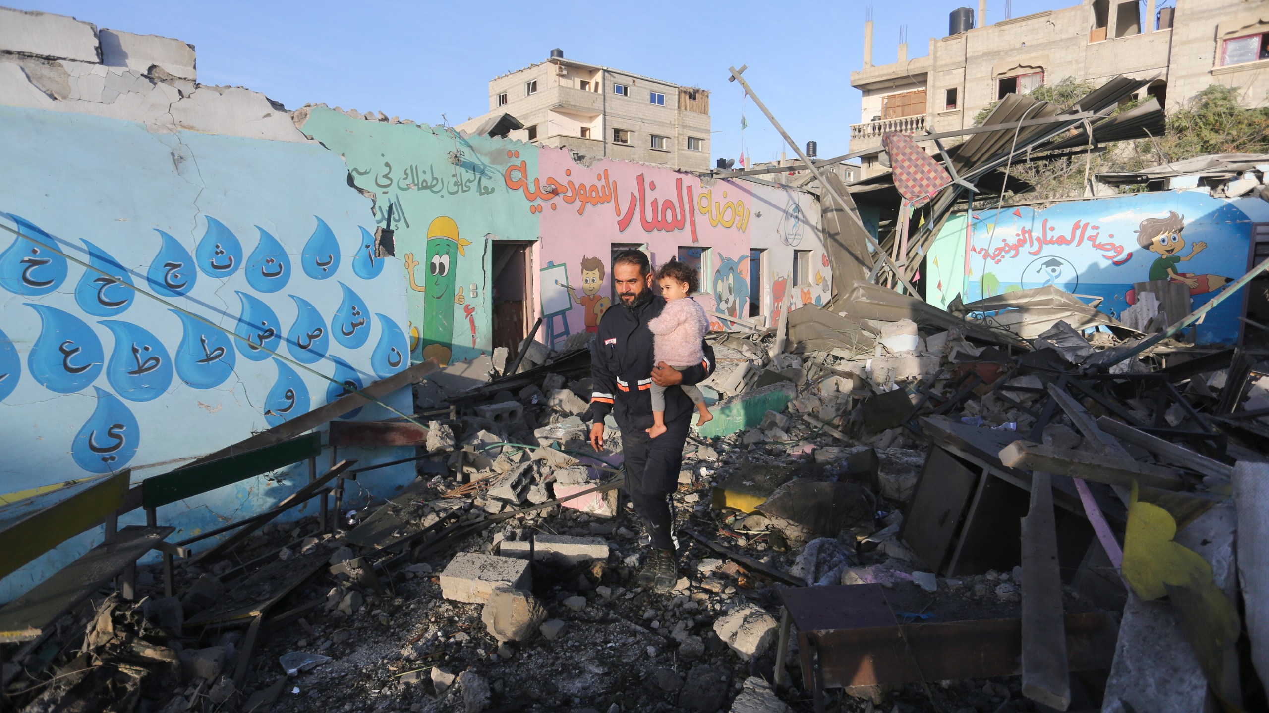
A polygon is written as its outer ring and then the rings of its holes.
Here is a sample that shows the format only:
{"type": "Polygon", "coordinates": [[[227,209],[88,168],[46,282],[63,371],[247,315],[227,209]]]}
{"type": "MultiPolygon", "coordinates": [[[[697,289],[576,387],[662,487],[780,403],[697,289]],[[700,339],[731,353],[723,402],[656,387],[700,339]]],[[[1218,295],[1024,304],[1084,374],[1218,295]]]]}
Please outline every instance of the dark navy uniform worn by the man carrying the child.
{"type": "MultiPolygon", "coordinates": [[[[618,303],[599,320],[599,337],[590,355],[594,386],[590,412],[602,424],[609,412],[622,431],[626,458],[626,490],[634,511],[643,520],[652,547],[674,549],[669,495],[679,487],[683,445],[688,439],[695,405],[683,389],[665,392],[666,431],[648,438],[652,426],[652,332],[648,320],[665,308],[665,298],[645,287],[632,306],[618,303]]],[[[694,384],[713,373],[713,349],[704,344],[704,362],[680,372],[684,384],[694,384]]]]}

